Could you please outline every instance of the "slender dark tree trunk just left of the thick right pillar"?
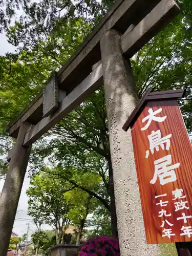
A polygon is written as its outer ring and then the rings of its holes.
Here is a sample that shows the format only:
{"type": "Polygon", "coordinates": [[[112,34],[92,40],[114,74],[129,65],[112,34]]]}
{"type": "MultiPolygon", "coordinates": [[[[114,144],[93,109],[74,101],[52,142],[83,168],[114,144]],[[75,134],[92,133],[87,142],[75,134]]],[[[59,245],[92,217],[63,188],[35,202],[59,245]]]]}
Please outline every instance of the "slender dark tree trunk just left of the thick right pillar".
{"type": "Polygon", "coordinates": [[[115,194],[114,194],[114,183],[113,183],[113,167],[111,163],[111,155],[108,159],[109,164],[109,182],[110,182],[110,203],[111,203],[111,229],[112,237],[118,239],[117,230],[117,216],[116,216],[116,206],[115,206],[115,194]]]}

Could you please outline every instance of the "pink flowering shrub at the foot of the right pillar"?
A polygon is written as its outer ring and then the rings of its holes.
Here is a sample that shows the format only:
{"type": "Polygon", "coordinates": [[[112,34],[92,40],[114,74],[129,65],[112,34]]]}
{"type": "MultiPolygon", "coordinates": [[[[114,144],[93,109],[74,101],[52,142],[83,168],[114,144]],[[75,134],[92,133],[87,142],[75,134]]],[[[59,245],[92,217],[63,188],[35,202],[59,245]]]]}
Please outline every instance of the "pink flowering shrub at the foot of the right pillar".
{"type": "Polygon", "coordinates": [[[90,238],[81,247],[79,256],[120,256],[119,242],[107,236],[90,238]]]}

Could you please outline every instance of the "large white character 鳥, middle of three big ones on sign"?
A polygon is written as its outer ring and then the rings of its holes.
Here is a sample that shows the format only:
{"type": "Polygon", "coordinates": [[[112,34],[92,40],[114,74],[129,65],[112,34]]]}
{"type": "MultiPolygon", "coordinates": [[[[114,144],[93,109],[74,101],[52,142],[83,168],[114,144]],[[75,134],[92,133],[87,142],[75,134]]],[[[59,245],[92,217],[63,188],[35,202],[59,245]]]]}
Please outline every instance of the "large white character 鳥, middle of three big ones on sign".
{"type": "MultiPolygon", "coordinates": [[[[152,134],[148,135],[148,140],[150,141],[150,151],[152,154],[154,154],[154,148],[156,148],[156,151],[159,151],[159,146],[161,146],[162,150],[165,149],[164,144],[166,143],[166,150],[169,150],[170,148],[170,137],[172,137],[172,134],[169,134],[163,138],[161,138],[161,131],[158,130],[156,132],[152,131],[152,134]]],[[[145,158],[148,158],[150,151],[146,151],[145,158]]]]}

